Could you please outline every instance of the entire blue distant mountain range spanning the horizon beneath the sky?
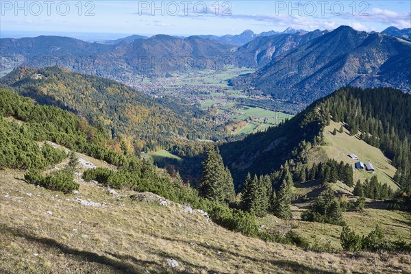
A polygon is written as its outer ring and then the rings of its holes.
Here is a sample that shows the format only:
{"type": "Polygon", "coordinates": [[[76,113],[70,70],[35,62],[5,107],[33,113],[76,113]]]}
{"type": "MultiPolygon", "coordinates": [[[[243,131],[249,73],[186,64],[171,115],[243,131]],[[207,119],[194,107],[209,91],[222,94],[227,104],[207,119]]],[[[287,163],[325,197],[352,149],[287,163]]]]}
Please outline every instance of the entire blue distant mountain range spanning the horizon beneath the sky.
{"type": "Polygon", "coordinates": [[[219,70],[229,64],[258,69],[232,79],[233,86],[260,90],[282,101],[310,103],[349,85],[410,92],[411,42],[398,38],[406,37],[409,29],[390,27],[383,33],[341,26],[333,31],[245,31],[221,37],[130,36],[106,44],[59,36],[3,38],[0,71],[58,65],[134,84],[141,77],[219,70]],[[240,47],[232,45],[246,40],[240,47]]]}

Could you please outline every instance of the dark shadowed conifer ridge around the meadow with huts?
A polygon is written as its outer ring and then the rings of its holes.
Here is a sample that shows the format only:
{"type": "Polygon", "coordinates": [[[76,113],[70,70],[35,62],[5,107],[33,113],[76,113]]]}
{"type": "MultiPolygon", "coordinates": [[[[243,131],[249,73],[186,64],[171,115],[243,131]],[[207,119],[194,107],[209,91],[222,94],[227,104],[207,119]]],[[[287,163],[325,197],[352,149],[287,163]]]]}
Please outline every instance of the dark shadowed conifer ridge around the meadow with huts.
{"type": "Polygon", "coordinates": [[[342,88],[312,103],[286,123],[221,145],[221,155],[237,183],[247,172],[269,174],[286,160],[306,161],[310,148],[323,142],[329,119],[345,123],[352,135],[381,149],[407,184],[411,163],[411,95],[392,88],[342,88]]]}

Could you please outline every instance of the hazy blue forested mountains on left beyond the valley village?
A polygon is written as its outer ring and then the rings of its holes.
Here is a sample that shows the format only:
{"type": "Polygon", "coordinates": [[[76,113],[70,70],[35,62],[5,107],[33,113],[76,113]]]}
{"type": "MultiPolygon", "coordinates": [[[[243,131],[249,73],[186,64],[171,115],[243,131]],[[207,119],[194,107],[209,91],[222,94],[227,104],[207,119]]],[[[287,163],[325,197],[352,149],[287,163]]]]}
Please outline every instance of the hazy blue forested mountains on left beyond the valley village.
{"type": "MultiPolygon", "coordinates": [[[[133,39],[133,38],[131,38],[133,39]]],[[[134,82],[135,77],[161,76],[233,64],[232,46],[198,36],[156,35],[116,45],[60,36],[0,39],[0,70],[17,66],[61,66],[79,73],[134,82]]]]}

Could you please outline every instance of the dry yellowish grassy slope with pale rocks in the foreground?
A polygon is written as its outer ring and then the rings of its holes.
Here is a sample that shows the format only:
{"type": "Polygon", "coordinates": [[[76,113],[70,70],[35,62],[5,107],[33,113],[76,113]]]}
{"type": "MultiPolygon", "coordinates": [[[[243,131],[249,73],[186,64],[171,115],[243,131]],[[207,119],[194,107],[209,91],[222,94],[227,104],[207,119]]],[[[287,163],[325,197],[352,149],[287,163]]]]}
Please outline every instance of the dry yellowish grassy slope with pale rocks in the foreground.
{"type": "Polygon", "coordinates": [[[22,178],[20,171],[0,171],[0,270],[12,273],[411,271],[411,256],[363,253],[353,259],[303,251],[229,232],[182,206],[134,201],[135,192],[110,195],[107,188],[79,180],[77,195],[62,195],[22,178]],[[105,204],[83,206],[76,197],[105,204]],[[177,269],[167,268],[167,258],[179,262],[177,269]]]}

